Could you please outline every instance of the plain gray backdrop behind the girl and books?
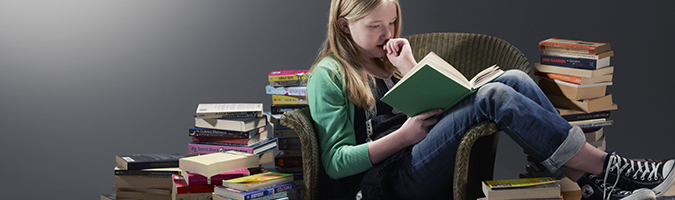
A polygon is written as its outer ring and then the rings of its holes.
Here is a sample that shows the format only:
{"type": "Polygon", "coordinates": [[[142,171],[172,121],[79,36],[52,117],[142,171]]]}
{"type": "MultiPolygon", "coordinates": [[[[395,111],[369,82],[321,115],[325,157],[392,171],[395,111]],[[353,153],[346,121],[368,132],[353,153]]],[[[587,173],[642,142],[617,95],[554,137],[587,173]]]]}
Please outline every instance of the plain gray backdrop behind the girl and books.
{"type": "MultiPolygon", "coordinates": [[[[607,148],[674,157],[675,1],[404,1],[403,35],[483,33],[532,63],[549,37],[610,42],[607,148]]],[[[271,103],[267,74],[307,69],[329,2],[0,1],[0,198],[98,199],[115,154],[187,153],[200,102],[271,103]]],[[[496,178],[525,171],[503,135],[496,178]]]]}

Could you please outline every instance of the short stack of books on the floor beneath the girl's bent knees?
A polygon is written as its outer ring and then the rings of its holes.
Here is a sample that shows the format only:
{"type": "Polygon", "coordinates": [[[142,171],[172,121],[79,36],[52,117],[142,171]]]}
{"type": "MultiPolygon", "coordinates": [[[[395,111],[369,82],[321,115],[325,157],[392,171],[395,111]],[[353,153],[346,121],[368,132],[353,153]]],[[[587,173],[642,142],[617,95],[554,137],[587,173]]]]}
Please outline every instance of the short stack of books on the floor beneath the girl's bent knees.
{"type": "Polygon", "coordinates": [[[550,177],[483,181],[482,200],[562,200],[560,183],[550,177]]]}

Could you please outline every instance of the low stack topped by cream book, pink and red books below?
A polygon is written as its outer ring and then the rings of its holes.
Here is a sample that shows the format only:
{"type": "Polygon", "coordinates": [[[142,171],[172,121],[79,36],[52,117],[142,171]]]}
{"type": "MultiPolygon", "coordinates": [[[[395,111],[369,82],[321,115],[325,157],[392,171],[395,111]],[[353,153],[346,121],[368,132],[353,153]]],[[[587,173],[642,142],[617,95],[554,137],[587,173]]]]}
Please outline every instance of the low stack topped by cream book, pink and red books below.
{"type": "Polygon", "coordinates": [[[249,168],[257,168],[259,162],[257,155],[237,151],[181,158],[182,176],[172,176],[172,198],[210,199],[222,181],[250,175],[249,168]]]}

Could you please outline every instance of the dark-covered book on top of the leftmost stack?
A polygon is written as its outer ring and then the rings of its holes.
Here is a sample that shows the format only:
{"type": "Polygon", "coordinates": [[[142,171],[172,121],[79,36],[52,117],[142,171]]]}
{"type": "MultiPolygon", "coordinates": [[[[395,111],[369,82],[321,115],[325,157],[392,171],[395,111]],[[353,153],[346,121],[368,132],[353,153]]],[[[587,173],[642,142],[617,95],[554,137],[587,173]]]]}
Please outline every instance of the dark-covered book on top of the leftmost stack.
{"type": "Polygon", "coordinates": [[[126,170],[178,167],[179,154],[118,154],[117,166],[126,170]]]}

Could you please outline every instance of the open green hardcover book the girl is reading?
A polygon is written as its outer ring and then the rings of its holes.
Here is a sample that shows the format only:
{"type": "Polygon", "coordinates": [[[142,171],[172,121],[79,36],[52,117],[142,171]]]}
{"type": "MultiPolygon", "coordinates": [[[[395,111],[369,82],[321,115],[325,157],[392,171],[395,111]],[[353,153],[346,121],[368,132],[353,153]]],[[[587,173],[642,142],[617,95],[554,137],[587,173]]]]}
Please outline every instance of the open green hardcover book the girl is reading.
{"type": "Polygon", "coordinates": [[[431,52],[380,100],[408,116],[437,108],[447,110],[503,73],[493,65],[467,80],[452,65],[431,52]]]}

